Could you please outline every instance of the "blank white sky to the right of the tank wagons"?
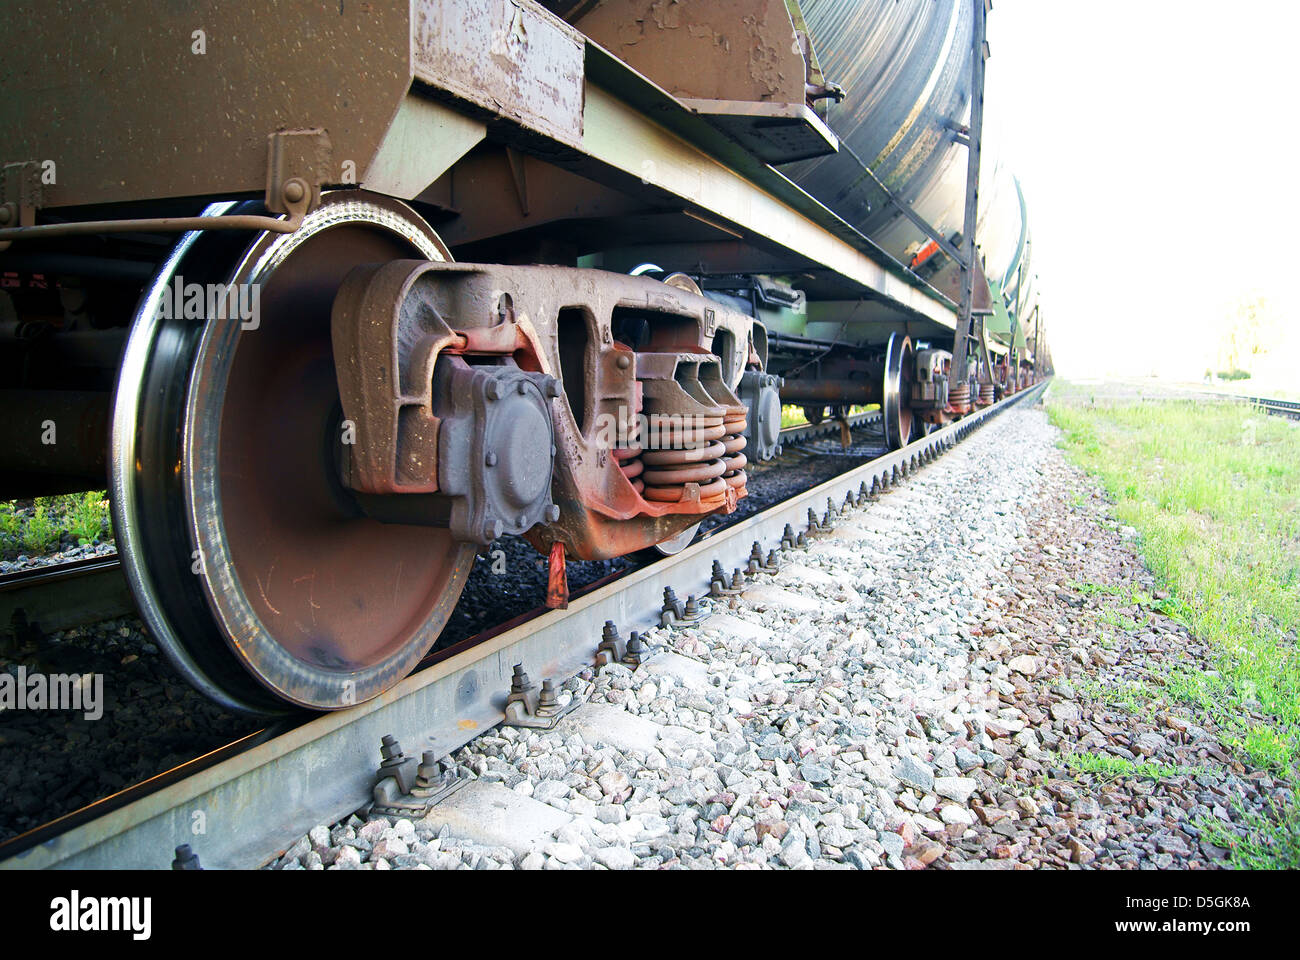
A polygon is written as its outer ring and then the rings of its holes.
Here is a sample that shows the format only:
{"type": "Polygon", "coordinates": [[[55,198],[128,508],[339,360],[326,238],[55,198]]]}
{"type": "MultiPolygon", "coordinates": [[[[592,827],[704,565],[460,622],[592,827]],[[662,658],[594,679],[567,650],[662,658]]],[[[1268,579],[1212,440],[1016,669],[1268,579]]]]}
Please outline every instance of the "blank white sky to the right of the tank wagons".
{"type": "Polygon", "coordinates": [[[1058,372],[1200,376],[1239,298],[1297,299],[1297,27],[1292,0],[994,0],[985,107],[1058,372]]]}

